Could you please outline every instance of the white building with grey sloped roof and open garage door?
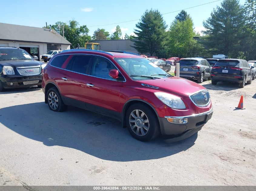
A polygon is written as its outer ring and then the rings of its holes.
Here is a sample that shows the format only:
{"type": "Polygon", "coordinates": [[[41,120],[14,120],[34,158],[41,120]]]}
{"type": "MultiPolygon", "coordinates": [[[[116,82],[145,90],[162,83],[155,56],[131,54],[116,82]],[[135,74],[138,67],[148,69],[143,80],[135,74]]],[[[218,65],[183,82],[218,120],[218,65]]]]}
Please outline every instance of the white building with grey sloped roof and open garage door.
{"type": "Polygon", "coordinates": [[[55,30],[0,23],[0,46],[24,49],[31,55],[38,56],[40,61],[42,55],[49,50],[66,50],[70,49],[70,45],[55,30]]]}

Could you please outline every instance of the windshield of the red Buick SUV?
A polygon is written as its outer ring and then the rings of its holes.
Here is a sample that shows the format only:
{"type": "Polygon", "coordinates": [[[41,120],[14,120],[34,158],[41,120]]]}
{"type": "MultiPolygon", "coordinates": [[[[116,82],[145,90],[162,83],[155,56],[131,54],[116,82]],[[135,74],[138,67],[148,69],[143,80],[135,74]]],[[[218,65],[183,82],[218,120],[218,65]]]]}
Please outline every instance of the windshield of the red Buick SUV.
{"type": "Polygon", "coordinates": [[[115,61],[133,80],[171,77],[171,75],[145,58],[115,58],[115,61]]]}

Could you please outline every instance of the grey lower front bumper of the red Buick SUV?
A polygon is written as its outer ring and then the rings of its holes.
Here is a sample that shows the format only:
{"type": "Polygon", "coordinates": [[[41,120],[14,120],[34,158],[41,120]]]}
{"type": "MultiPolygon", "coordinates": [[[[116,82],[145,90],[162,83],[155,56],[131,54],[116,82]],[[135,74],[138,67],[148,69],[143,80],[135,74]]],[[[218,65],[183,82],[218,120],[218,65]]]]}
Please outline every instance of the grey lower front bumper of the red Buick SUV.
{"type": "Polygon", "coordinates": [[[194,133],[201,130],[202,126],[204,126],[209,119],[211,119],[213,114],[213,109],[204,112],[199,113],[191,116],[181,116],[181,117],[175,117],[175,116],[166,116],[164,117],[158,117],[158,120],[160,122],[160,129],[161,134],[164,135],[164,139],[168,140],[168,142],[176,142],[183,140],[185,138],[188,138],[189,136],[193,135],[194,133]],[[178,118],[183,119],[187,118],[187,123],[185,124],[175,124],[170,123],[167,118],[178,118]]]}

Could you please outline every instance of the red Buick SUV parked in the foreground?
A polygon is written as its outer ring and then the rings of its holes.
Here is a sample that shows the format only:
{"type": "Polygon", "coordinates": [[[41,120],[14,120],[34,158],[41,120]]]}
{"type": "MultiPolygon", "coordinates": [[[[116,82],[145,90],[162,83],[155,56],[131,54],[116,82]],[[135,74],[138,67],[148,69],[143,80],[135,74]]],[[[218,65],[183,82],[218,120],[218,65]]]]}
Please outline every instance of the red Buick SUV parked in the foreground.
{"type": "Polygon", "coordinates": [[[140,141],[185,139],[213,113],[203,86],[128,53],[64,50],[43,69],[42,90],[50,110],[72,105],[116,118],[140,141]]]}

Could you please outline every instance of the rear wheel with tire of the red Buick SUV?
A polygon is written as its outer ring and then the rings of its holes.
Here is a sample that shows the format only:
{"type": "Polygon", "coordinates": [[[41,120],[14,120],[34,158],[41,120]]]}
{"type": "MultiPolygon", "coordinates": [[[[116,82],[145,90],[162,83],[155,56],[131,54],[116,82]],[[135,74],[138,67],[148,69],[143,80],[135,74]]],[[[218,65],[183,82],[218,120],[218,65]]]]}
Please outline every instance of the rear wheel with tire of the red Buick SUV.
{"type": "Polygon", "coordinates": [[[62,101],[61,95],[57,88],[50,88],[47,92],[47,103],[52,111],[62,112],[67,109],[67,105],[65,105],[62,101]]]}

